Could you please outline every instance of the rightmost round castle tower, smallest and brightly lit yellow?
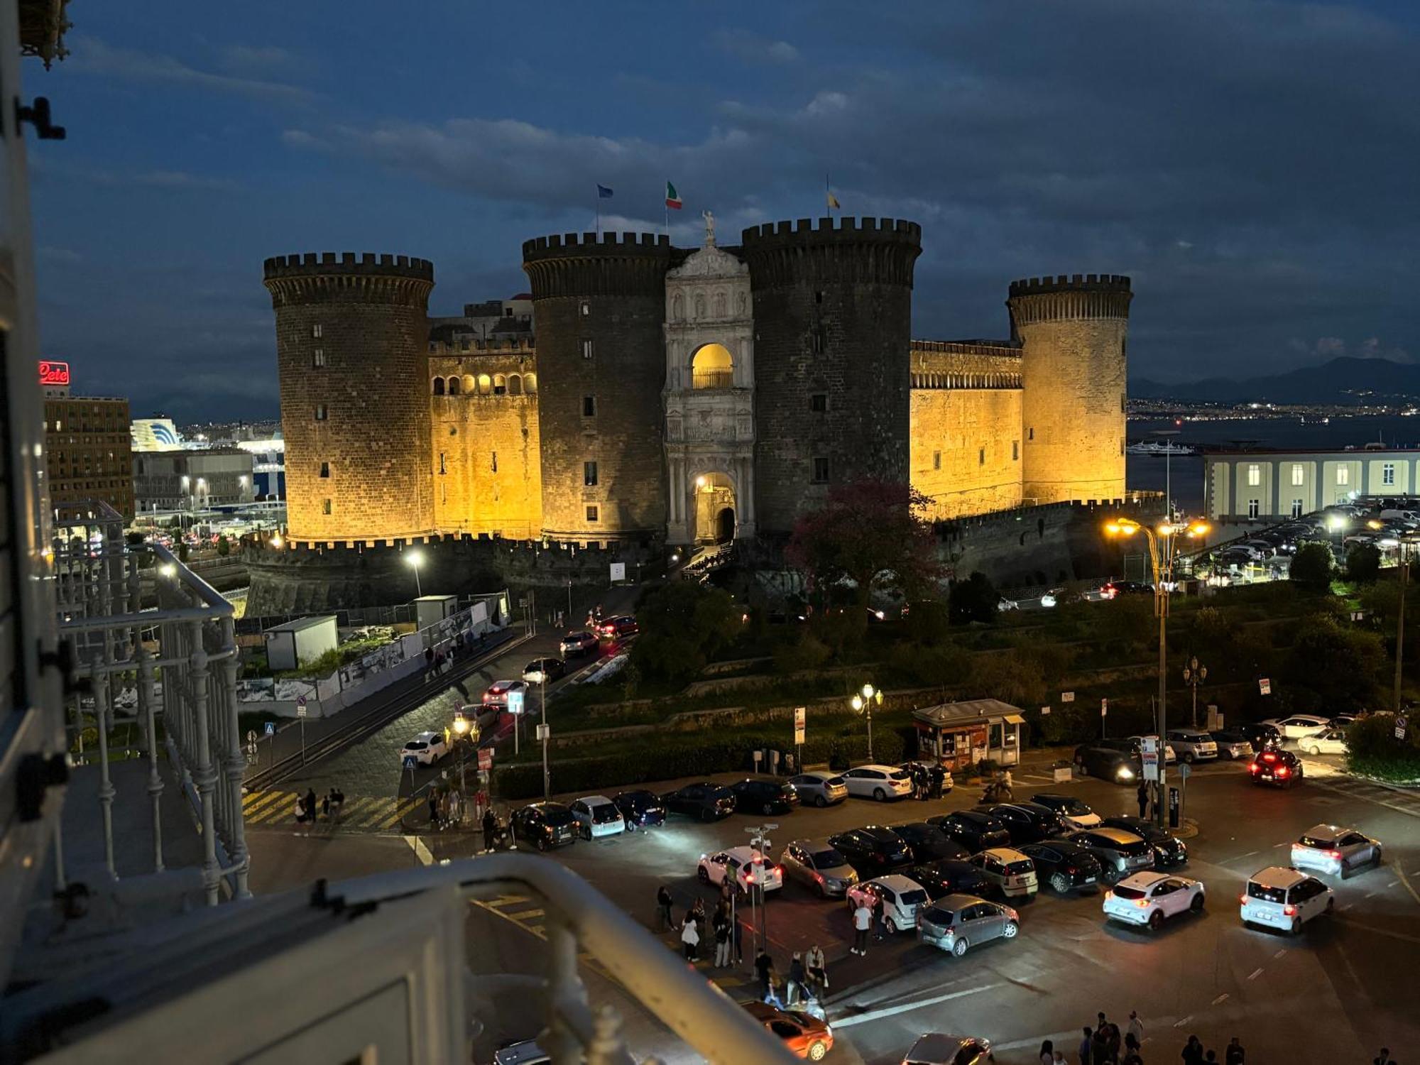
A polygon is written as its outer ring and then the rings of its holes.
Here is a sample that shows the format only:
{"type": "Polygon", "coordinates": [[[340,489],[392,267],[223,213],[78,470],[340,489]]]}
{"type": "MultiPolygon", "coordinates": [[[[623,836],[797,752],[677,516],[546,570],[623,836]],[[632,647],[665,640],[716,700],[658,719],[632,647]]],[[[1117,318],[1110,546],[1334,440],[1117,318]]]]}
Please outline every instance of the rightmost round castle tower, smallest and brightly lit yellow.
{"type": "Polygon", "coordinates": [[[1025,503],[1123,498],[1130,298],[1129,278],[1118,274],[1011,284],[1025,503]]]}

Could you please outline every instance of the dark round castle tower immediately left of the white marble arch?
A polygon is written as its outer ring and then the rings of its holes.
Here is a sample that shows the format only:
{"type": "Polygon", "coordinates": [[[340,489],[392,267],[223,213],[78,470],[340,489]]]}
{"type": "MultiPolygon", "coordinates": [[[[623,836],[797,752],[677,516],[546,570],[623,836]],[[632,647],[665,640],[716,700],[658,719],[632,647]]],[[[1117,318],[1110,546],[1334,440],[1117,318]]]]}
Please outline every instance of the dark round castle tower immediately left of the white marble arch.
{"type": "Polygon", "coordinates": [[[662,389],[670,240],[568,233],[523,244],[537,322],[542,535],[666,534],[662,389]]]}

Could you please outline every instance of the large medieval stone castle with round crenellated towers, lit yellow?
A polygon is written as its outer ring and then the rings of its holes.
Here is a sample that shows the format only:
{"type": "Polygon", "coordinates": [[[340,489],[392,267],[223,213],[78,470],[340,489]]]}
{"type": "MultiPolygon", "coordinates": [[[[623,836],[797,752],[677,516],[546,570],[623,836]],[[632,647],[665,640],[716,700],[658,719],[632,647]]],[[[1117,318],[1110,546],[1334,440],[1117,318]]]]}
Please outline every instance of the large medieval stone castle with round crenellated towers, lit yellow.
{"type": "Polygon", "coordinates": [[[866,217],[538,237],[504,339],[430,339],[426,260],[268,258],[288,540],[774,537],[863,477],[941,518],[1122,498],[1129,278],[1015,281],[1010,339],[914,341],[920,251],[866,217]]]}

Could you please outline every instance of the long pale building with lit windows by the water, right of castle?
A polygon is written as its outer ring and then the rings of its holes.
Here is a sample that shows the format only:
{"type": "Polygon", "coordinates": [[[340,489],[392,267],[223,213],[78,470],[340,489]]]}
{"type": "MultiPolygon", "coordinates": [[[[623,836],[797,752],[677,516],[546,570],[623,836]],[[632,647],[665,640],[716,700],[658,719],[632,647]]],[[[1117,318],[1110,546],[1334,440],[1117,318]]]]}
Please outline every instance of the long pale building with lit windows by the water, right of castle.
{"type": "Polygon", "coordinates": [[[1203,456],[1206,508],[1218,523],[1299,517],[1366,496],[1413,496],[1417,484],[1420,449],[1413,447],[1214,450],[1203,456]]]}

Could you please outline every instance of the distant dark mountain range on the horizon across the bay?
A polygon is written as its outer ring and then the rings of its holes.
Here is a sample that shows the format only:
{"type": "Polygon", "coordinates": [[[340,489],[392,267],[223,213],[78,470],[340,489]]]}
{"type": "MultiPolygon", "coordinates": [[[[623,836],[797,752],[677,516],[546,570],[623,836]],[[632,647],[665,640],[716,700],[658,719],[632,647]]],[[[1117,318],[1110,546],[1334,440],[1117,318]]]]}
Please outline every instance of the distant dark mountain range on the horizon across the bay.
{"type": "Polygon", "coordinates": [[[1380,396],[1420,396],[1420,365],[1389,359],[1343,356],[1287,373],[1262,378],[1206,378],[1177,385],[1133,378],[1129,395],[1137,399],[1200,399],[1220,403],[1362,403],[1380,396]]]}

